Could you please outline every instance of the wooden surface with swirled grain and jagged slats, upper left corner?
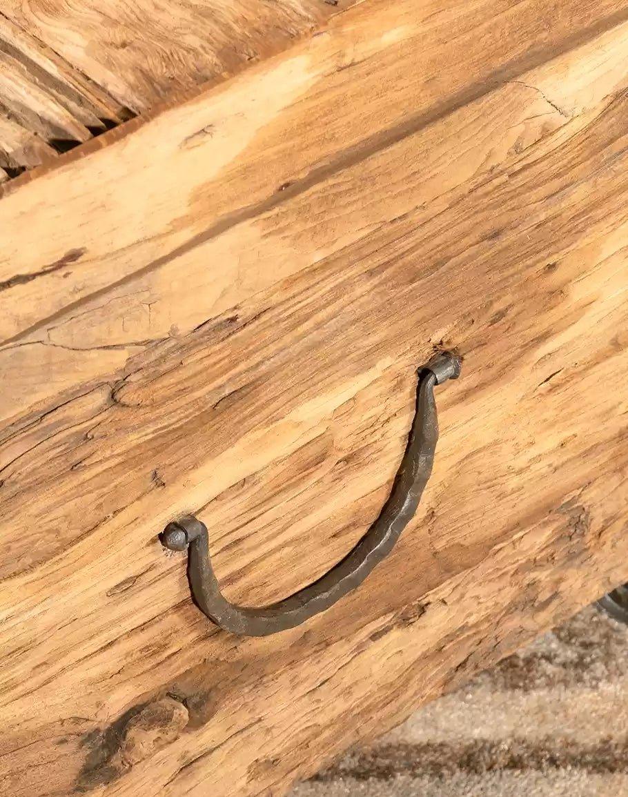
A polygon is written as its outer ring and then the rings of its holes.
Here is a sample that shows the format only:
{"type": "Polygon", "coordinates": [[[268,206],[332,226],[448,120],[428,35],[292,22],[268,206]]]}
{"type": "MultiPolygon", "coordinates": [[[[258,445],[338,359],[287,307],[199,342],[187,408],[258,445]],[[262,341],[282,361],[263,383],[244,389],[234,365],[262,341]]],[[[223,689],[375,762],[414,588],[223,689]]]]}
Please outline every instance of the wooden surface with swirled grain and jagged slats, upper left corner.
{"type": "MultiPolygon", "coordinates": [[[[6,0],[0,124],[65,151],[183,90],[223,80],[355,0],[6,0]]],[[[47,151],[5,147],[12,173],[47,151]],[[23,155],[23,157],[22,157],[23,155]]]]}

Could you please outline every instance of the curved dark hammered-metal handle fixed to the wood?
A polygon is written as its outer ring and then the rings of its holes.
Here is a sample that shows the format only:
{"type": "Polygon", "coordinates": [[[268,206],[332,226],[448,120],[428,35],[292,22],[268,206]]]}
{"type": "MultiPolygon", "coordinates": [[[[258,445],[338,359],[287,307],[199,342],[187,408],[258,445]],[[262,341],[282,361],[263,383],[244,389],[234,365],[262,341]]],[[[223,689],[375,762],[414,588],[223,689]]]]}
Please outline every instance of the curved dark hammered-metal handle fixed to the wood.
{"type": "Polygon", "coordinates": [[[457,379],[460,371],[460,358],[449,352],[438,355],[419,371],[417,409],[408,446],[381,514],[344,559],[291,597],[262,609],[230,603],[222,595],[211,567],[206,525],[194,516],[168,524],[161,535],[162,544],[172,551],[184,551],[189,546],[190,587],[194,603],[203,614],[234,634],[262,637],[300,625],[359,587],[392,551],[417,510],[432,473],[438,440],[434,387],[447,379],[457,379]]]}

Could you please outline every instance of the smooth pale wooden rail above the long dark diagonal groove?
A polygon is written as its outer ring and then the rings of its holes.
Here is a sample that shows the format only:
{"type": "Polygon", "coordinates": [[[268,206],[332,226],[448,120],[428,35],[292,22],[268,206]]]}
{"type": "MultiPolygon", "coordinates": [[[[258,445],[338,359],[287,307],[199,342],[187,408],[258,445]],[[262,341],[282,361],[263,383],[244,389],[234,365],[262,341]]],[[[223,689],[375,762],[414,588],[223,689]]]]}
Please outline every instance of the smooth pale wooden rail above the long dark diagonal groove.
{"type": "Polygon", "coordinates": [[[80,148],[80,163],[69,153],[59,171],[12,183],[0,226],[30,229],[37,206],[41,243],[25,249],[19,236],[2,239],[0,338],[44,328],[114,282],[260,216],[628,15],[618,0],[569,0],[560,9],[549,0],[403,0],[395,14],[387,3],[356,6],[228,87],[101,136],[80,148]],[[383,84],[402,88],[383,92],[383,84]],[[54,201],[61,195],[62,207],[54,201]],[[83,223],[90,207],[97,226],[83,223]]]}

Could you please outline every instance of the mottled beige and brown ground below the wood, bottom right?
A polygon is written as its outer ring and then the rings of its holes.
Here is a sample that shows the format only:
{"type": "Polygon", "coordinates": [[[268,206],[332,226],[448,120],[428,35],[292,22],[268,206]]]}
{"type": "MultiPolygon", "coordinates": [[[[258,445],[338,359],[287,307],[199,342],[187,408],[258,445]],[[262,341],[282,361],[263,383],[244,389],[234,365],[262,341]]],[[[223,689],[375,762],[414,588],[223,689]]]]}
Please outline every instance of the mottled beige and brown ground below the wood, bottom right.
{"type": "Polygon", "coordinates": [[[589,607],[291,797],[628,797],[626,661],[589,607]]]}

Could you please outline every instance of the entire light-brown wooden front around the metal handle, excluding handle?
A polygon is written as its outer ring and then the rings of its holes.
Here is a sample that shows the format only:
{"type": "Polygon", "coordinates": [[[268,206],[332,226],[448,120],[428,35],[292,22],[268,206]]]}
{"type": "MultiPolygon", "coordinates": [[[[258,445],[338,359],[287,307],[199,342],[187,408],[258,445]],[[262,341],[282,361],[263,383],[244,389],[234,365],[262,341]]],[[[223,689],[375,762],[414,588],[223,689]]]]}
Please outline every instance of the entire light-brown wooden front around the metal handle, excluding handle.
{"type": "Polygon", "coordinates": [[[628,578],[628,11],[394,9],[4,188],[12,797],[280,794],[628,578]],[[391,559],[303,628],[210,626],[161,528],[198,513],[233,599],[309,583],[442,346],[391,559]]]}

